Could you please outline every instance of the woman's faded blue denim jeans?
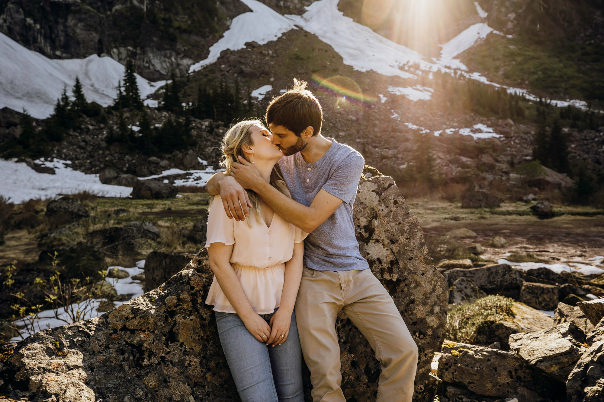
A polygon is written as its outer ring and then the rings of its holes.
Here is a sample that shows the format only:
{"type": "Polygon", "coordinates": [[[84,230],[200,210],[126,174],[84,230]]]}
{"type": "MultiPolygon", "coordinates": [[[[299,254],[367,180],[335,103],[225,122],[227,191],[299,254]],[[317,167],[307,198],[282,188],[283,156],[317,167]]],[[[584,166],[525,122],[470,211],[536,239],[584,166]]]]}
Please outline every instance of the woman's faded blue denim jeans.
{"type": "MultiPolygon", "coordinates": [[[[239,315],[215,313],[222,350],[241,400],[304,402],[302,350],[295,313],[289,325],[288,339],[275,347],[255,339],[239,315]]],[[[260,317],[269,322],[272,314],[260,314],[260,317]]]]}

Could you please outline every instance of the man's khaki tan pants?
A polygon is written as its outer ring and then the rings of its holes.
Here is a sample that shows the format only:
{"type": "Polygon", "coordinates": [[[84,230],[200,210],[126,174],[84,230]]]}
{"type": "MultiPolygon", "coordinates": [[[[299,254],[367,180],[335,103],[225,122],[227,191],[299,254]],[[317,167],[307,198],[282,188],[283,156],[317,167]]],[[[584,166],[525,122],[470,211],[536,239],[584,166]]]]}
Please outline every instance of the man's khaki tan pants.
{"type": "Polygon", "coordinates": [[[295,313],[313,402],[345,402],[335,330],[340,310],[367,338],[382,363],[377,401],[411,402],[417,345],[384,286],[370,269],[304,268],[295,313]]]}

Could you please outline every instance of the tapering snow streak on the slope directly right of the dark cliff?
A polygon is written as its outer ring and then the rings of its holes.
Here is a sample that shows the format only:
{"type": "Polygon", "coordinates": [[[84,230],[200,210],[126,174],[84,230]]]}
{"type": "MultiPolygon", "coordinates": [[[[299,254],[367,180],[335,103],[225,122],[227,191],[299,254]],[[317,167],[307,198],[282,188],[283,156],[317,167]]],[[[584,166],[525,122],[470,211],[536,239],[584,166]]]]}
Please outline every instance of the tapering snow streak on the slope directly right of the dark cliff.
{"type": "Polygon", "coordinates": [[[289,30],[297,29],[292,21],[268,5],[257,0],[241,0],[251,8],[251,12],[239,14],[233,18],[231,27],[218,42],[210,47],[210,54],[201,62],[191,65],[189,72],[199,71],[204,66],[216,62],[220,52],[226,49],[239,50],[245,48],[246,42],[257,42],[260,45],[277,40],[289,30]]]}

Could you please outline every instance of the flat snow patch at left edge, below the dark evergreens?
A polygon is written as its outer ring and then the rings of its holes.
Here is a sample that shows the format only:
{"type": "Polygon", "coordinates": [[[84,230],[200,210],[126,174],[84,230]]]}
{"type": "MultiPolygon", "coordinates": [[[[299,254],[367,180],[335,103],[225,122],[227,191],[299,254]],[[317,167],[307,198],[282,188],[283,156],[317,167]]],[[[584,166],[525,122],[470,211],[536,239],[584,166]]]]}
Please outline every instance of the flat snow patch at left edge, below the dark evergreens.
{"type": "Polygon", "coordinates": [[[56,174],[37,173],[25,163],[0,159],[0,195],[10,202],[22,203],[30,199],[48,199],[61,194],[76,194],[89,191],[104,197],[127,197],[132,188],[103,184],[98,174],[86,174],[73,170],[69,161],[54,159],[37,164],[54,168],[56,174]]]}

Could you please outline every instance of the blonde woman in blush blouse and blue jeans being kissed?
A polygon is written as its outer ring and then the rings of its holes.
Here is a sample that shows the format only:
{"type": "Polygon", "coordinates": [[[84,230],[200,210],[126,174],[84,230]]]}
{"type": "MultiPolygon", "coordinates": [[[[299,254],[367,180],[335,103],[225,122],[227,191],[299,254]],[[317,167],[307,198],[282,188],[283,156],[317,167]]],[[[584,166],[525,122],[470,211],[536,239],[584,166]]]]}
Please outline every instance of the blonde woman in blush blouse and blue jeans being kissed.
{"type": "MultiPolygon", "coordinates": [[[[281,151],[259,120],[231,127],[222,152],[225,174],[241,155],[289,196],[275,167],[281,151]]],[[[252,210],[245,221],[228,219],[220,196],[210,204],[205,247],[214,280],[205,302],[214,305],[220,343],[242,401],[304,401],[294,304],[306,234],[254,192],[248,195],[252,210]]]]}

